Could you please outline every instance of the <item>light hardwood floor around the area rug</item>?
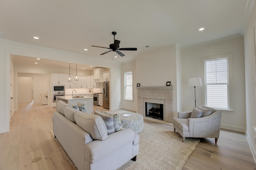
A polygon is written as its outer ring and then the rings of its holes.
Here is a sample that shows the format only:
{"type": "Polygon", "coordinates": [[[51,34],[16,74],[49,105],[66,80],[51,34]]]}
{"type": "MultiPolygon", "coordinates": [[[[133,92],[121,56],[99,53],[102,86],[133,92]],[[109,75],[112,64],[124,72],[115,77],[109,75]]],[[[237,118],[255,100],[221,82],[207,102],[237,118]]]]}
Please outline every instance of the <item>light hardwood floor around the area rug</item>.
{"type": "MultiPolygon", "coordinates": [[[[72,170],[50,133],[54,111],[41,104],[18,104],[10,121],[10,132],[0,134],[0,170],[72,170]],[[41,160],[31,162],[37,157],[41,160]]],[[[128,112],[115,112],[122,111],[128,112]]],[[[150,120],[144,123],[173,131],[171,125],[150,120]]],[[[214,139],[200,139],[183,170],[206,169],[256,170],[245,134],[221,129],[217,145],[214,139]]]]}

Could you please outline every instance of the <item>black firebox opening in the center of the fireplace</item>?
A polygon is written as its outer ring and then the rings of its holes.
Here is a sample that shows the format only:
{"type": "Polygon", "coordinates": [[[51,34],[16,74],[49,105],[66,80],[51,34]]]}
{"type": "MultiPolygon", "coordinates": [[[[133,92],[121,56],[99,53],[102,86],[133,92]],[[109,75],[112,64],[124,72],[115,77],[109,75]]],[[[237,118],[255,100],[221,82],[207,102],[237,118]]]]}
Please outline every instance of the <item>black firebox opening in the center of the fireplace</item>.
{"type": "Polygon", "coordinates": [[[145,103],[146,117],[164,120],[164,105],[156,103],[145,103]]]}

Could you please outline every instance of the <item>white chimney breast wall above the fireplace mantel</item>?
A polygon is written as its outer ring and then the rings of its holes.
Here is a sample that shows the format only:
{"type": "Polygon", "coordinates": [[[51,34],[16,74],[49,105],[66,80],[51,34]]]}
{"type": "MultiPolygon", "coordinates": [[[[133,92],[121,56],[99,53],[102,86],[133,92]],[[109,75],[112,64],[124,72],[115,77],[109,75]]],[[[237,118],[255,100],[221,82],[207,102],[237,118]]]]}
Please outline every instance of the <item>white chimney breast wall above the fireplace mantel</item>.
{"type": "MultiPolygon", "coordinates": [[[[136,83],[140,86],[166,86],[166,82],[171,81],[173,86],[177,86],[179,68],[176,66],[176,48],[176,45],[170,45],[169,48],[137,57],[136,83]]],[[[173,113],[177,113],[176,87],[173,90],[173,113]]]]}

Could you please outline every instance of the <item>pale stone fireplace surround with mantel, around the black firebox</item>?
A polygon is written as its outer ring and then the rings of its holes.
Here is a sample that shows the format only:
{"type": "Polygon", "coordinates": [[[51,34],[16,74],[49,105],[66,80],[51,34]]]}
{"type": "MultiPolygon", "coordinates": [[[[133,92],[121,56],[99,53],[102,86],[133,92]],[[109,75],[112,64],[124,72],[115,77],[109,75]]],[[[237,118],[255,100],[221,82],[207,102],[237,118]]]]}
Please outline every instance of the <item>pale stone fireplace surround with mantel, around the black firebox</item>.
{"type": "Polygon", "coordinates": [[[172,123],[172,99],[175,86],[164,87],[137,87],[138,103],[137,113],[146,116],[145,102],[164,104],[164,121],[172,123]]]}

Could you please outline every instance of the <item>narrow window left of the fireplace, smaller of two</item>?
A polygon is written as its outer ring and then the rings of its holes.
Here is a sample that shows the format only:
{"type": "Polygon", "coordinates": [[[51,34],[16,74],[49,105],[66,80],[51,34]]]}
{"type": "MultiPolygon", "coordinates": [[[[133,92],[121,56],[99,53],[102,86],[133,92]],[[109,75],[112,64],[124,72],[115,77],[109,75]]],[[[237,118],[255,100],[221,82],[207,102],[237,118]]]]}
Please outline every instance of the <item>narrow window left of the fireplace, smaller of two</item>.
{"type": "Polygon", "coordinates": [[[133,100],[132,95],[132,71],[124,72],[124,99],[133,100]]]}

